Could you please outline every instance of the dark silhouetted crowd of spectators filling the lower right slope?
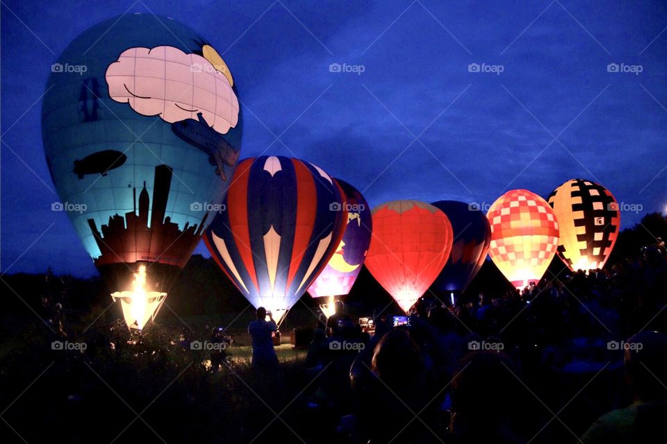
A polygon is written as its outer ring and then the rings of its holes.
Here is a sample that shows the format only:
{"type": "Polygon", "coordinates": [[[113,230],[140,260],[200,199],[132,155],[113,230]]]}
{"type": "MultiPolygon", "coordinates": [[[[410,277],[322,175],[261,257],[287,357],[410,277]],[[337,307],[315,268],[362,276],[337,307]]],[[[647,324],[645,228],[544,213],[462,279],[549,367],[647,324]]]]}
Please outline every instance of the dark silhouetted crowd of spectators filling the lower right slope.
{"type": "Polygon", "coordinates": [[[651,246],[461,305],[427,295],[373,336],[338,304],[308,348],[312,420],[337,418],[341,443],[664,444],[666,288],[651,246]]]}

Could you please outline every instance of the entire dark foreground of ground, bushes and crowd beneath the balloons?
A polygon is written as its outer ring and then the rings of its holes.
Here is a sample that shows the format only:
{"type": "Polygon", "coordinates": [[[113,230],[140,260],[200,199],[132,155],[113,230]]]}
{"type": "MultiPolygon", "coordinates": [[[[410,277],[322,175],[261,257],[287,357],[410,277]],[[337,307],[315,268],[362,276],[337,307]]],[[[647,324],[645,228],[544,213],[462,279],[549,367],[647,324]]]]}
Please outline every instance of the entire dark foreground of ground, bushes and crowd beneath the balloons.
{"type": "MultiPolygon", "coordinates": [[[[233,343],[215,354],[192,345],[215,341],[204,318],[163,311],[139,335],[113,321],[117,307],[94,305],[68,312],[60,331],[48,303],[19,305],[1,320],[1,441],[582,442],[633,400],[663,411],[666,365],[628,384],[621,341],[667,331],[666,288],[667,257],[652,251],[588,276],[552,274],[523,294],[488,291],[459,307],[431,296],[409,328],[379,307],[373,339],[343,328],[307,352],[281,345],[274,373],[250,365],[249,309],[216,324],[231,325],[233,343]]],[[[291,327],[316,327],[312,307],[290,312],[283,343],[291,327]]],[[[634,442],[667,441],[652,428],[664,417],[644,416],[634,442]]]]}

